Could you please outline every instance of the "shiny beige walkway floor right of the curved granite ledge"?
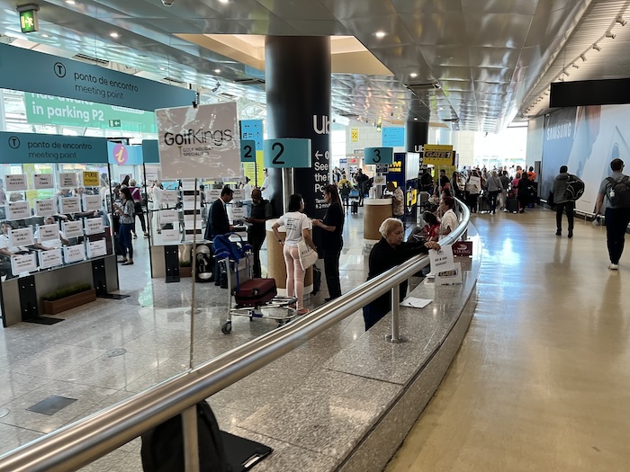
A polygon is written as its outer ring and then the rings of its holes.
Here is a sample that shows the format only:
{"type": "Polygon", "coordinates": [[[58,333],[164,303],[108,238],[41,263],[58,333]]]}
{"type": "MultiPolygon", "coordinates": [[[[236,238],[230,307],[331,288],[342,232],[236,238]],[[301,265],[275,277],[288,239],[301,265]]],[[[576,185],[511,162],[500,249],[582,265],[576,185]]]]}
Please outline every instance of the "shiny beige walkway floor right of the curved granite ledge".
{"type": "Polygon", "coordinates": [[[473,222],[473,322],[386,471],[629,470],[628,250],[609,271],[605,229],[551,211],[473,222]]]}

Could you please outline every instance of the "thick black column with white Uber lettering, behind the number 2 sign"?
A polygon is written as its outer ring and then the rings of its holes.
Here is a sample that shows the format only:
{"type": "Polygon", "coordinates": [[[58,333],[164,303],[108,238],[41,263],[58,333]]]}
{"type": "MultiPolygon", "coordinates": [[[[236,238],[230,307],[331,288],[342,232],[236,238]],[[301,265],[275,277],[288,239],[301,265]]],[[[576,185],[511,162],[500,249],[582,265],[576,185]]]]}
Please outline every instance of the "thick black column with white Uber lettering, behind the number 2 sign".
{"type": "MultiPolygon", "coordinates": [[[[311,169],[295,169],[294,189],[305,211],[322,218],[323,187],[330,169],[330,38],[267,36],[265,40],[267,136],[311,139],[311,169]]],[[[269,172],[275,215],[282,209],[282,176],[269,172]]]]}

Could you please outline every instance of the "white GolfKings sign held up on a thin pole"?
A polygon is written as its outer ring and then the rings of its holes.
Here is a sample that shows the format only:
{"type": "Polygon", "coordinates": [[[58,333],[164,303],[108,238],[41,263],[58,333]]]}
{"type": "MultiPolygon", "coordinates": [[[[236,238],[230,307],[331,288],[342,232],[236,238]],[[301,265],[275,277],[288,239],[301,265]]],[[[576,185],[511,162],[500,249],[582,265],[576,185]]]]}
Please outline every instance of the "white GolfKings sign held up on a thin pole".
{"type": "Polygon", "coordinates": [[[240,176],[235,102],[165,108],[156,117],[163,178],[240,176]]]}

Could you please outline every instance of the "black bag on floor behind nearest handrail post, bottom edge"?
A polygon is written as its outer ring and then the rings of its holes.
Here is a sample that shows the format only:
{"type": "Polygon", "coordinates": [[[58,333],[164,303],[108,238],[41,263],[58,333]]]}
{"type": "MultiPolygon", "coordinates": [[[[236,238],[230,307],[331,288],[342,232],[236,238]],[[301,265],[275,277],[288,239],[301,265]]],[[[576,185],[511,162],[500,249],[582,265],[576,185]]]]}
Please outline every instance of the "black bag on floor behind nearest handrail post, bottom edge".
{"type": "MultiPolygon", "coordinates": [[[[223,446],[219,423],[210,405],[197,404],[199,431],[199,470],[231,472],[223,446]]],[[[144,472],[184,472],[184,433],[181,415],[142,434],[142,469],[144,472]]]]}

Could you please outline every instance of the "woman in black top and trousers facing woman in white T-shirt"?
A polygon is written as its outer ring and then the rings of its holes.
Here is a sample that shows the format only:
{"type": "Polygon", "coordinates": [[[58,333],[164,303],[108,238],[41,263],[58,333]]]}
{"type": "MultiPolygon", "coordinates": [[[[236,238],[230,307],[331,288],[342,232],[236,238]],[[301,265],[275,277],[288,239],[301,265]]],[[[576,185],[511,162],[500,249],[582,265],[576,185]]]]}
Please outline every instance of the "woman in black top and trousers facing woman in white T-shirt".
{"type": "Polygon", "coordinates": [[[324,272],[326,272],[326,284],[329,286],[330,301],[341,297],[341,283],[339,282],[339,256],[344,245],[341,236],[344,230],[344,209],[341,207],[337,185],[324,187],[324,199],[329,203],[329,209],[323,219],[313,219],[313,226],[323,229],[321,236],[324,272]]]}

